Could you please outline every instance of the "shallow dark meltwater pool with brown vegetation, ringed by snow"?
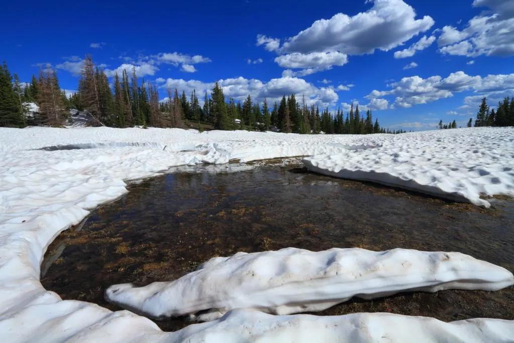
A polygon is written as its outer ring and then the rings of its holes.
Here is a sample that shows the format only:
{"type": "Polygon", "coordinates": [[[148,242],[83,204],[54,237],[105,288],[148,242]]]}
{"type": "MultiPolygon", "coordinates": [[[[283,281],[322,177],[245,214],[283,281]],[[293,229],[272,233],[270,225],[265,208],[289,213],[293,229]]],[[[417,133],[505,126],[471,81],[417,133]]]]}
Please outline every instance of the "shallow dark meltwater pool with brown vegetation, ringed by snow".
{"type": "MultiPolygon", "coordinates": [[[[119,310],[103,299],[109,285],[172,280],[214,256],[288,246],[461,251],[514,270],[514,202],[508,199],[493,199],[486,210],[311,174],[292,165],[235,173],[179,172],[129,188],[52,243],[42,268],[48,290],[119,310]]],[[[418,292],[350,301],[321,314],[514,319],[512,303],[512,287],[418,292]]],[[[188,322],[157,323],[163,330],[176,330],[188,322]]]]}

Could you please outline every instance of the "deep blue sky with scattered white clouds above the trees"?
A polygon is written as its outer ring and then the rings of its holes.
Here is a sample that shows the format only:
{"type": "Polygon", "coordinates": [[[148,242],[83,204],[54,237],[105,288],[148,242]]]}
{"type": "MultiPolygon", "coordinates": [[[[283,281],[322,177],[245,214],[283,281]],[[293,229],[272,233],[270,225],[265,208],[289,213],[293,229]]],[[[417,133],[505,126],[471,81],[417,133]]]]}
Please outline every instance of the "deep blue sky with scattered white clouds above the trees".
{"type": "Polygon", "coordinates": [[[109,76],[187,93],[373,110],[391,128],[465,125],[479,99],[514,95],[514,1],[9,2],[0,57],[22,81],[57,68],[77,88],[90,53],[109,76]]]}

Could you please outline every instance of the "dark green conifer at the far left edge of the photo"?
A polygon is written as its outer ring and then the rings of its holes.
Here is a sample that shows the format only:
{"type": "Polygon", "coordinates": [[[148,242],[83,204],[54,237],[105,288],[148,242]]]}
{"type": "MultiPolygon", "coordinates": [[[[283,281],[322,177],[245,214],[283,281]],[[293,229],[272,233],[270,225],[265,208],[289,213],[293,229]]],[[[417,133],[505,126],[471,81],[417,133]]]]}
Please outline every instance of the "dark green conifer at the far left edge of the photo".
{"type": "Polygon", "coordinates": [[[7,64],[0,66],[0,126],[23,128],[25,120],[7,64]]]}

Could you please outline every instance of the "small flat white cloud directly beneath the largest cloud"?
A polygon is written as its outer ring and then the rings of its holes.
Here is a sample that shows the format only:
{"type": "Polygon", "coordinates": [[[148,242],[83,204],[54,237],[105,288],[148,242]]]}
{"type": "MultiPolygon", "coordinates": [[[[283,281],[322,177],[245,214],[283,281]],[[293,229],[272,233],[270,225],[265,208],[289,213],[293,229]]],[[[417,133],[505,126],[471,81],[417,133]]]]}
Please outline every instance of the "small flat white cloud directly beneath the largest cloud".
{"type": "Polygon", "coordinates": [[[275,62],[283,68],[302,69],[295,72],[295,74],[303,76],[313,74],[316,71],[331,69],[334,65],[344,65],[348,62],[348,58],[344,53],[339,51],[293,52],[276,57],[275,62]]]}

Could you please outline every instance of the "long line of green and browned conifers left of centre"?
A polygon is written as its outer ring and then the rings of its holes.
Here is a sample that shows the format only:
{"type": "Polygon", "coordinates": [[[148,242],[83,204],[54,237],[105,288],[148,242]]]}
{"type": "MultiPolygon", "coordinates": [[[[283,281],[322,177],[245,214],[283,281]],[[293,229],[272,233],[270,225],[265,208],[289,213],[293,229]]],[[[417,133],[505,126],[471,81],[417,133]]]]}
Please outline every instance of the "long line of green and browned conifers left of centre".
{"type": "Polygon", "coordinates": [[[24,127],[31,125],[62,125],[69,116],[69,109],[87,111],[98,125],[109,127],[174,127],[201,128],[200,123],[219,130],[272,130],[285,133],[371,134],[403,133],[380,127],[373,120],[372,112],[361,114],[359,106],[351,106],[343,114],[331,113],[327,108],[320,112],[318,106],[308,106],[305,97],[301,102],[294,94],[283,96],[281,101],[269,106],[265,98],[260,104],[250,95],[243,101],[233,98],[226,101],[223,88],[218,82],[212,92],[203,95],[200,106],[196,91],[188,97],[184,91],[168,89],[166,101],[159,101],[157,86],[139,80],[136,70],[129,76],[126,70],[114,75],[109,85],[102,68],[95,66],[90,56],[84,60],[78,84],[78,92],[69,98],[59,87],[55,70],[41,70],[39,78],[32,77],[22,87],[19,78],[11,75],[4,63],[0,75],[0,125],[24,127]],[[39,106],[33,116],[28,115],[27,104],[39,106]]]}

